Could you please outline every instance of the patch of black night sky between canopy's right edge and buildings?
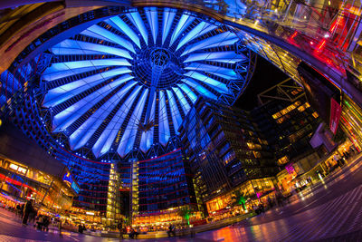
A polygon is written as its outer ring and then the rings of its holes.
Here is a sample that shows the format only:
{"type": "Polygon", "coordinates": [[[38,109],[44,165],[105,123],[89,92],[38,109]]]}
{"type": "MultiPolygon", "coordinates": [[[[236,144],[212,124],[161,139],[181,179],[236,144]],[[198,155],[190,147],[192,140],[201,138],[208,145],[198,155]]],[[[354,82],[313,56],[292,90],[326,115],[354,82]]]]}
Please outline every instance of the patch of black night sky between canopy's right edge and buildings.
{"type": "Polygon", "coordinates": [[[250,111],[258,105],[257,95],[271,86],[284,81],[288,76],[264,58],[258,56],[254,74],[245,92],[233,104],[234,107],[250,111]]]}

